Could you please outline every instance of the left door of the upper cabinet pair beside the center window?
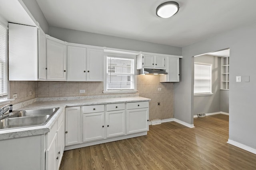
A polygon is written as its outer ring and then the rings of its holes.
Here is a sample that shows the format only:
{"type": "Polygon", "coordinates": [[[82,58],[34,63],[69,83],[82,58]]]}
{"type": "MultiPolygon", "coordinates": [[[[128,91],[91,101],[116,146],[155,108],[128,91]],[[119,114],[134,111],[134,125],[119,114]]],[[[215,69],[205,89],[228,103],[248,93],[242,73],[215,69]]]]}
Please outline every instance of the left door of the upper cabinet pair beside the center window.
{"type": "Polygon", "coordinates": [[[68,46],[68,81],[86,81],[86,48],[68,46]]]}

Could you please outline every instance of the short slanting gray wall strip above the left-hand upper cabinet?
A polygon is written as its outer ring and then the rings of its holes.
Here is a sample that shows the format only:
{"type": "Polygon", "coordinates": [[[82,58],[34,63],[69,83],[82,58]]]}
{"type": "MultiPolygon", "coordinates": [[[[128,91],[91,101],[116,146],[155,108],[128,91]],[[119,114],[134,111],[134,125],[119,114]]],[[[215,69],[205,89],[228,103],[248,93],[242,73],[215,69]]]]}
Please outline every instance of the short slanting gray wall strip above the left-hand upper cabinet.
{"type": "Polygon", "coordinates": [[[22,0],[32,16],[38,21],[40,27],[44,31],[44,33],[49,33],[49,24],[44,17],[43,12],[41,11],[40,7],[38,6],[36,0],[22,0]]]}

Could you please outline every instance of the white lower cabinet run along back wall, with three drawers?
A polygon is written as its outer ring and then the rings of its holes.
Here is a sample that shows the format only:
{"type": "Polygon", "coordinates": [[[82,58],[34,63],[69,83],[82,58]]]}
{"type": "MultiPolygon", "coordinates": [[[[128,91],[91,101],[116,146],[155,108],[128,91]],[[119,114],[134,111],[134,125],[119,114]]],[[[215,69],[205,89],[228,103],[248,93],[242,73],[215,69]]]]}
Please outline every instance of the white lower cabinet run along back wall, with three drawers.
{"type": "Polygon", "coordinates": [[[68,107],[66,108],[65,150],[146,135],[148,113],[147,101],[68,107]],[[81,121],[78,120],[80,117],[78,108],[81,108],[81,121]],[[74,114],[68,115],[71,110],[74,114]],[[68,128],[67,132],[67,127],[70,125],[73,129],[68,128]],[[82,137],[81,142],[79,137],[82,137]]]}

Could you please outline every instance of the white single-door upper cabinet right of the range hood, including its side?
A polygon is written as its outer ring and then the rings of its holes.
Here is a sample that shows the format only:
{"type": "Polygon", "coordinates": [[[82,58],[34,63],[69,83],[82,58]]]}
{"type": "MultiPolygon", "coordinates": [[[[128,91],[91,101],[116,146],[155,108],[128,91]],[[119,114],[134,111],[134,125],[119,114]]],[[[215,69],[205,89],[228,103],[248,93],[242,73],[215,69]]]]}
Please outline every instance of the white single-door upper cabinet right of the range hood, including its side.
{"type": "Polygon", "coordinates": [[[180,56],[167,57],[167,75],[160,76],[160,82],[179,82],[180,81],[180,56]]]}

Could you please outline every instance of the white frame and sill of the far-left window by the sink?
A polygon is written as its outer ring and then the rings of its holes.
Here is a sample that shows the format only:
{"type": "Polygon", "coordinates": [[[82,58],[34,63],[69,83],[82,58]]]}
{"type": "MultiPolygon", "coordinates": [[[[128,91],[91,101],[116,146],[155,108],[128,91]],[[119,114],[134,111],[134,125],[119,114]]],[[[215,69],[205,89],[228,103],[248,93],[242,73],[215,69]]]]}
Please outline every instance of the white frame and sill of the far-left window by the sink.
{"type": "Polygon", "coordinates": [[[10,99],[10,83],[8,80],[8,27],[4,25],[3,23],[0,22],[0,25],[6,29],[6,90],[7,90],[7,95],[6,96],[0,96],[0,105],[10,103],[14,99],[10,99]]]}

